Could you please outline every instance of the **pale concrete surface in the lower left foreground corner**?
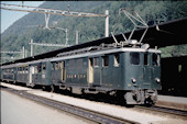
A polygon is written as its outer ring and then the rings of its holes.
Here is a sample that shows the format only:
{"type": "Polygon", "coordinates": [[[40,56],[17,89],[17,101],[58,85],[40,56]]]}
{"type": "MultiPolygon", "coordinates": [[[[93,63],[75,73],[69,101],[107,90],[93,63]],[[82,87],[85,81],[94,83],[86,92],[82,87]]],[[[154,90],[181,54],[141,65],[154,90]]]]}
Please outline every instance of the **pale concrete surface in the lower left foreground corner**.
{"type": "Polygon", "coordinates": [[[78,117],[1,90],[1,124],[89,124],[78,117]]]}

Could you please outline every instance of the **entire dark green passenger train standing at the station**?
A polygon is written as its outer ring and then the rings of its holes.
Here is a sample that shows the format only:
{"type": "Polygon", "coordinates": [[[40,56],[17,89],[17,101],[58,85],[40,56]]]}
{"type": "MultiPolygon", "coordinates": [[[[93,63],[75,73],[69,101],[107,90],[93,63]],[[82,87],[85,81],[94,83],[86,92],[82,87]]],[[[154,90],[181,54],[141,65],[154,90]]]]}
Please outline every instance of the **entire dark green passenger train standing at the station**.
{"type": "Polygon", "coordinates": [[[161,84],[161,50],[128,45],[89,46],[57,56],[1,66],[1,80],[28,87],[107,93],[125,104],[155,104],[161,84]]]}

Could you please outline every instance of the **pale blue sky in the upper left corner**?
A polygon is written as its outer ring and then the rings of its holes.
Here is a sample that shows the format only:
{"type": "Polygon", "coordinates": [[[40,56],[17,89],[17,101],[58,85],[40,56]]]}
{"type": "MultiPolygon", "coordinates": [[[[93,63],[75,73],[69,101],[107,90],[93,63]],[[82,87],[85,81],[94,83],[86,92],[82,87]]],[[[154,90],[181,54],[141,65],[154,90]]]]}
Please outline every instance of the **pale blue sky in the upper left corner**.
{"type": "MultiPolygon", "coordinates": [[[[24,1],[24,5],[38,7],[44,1],[24,1]]],[[[7,4],[22,4],[22,1],[1,1],[1,3],[7,4]]],[[[16,20],[21,19],[29,12],[10,11],[1,9],[1,33],[4,32],[10,25],[12,25],[16,20]]]]}

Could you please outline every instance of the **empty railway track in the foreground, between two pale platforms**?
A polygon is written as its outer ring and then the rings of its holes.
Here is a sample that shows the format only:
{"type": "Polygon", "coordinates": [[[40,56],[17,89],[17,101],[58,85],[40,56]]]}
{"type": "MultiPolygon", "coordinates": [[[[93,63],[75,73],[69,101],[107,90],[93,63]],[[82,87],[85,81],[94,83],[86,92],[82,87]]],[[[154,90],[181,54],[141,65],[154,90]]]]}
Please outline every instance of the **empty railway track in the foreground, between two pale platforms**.
{"type": "Polygon", "coordinates": [[[62,103],[62,102],[57,102],[54,100],[50,100],[43,97],[37,97],[34,94],[30,94],[28,93],[25,90],[15,90],[15,89],[11,89],[11,88],[7,88],[7,87],[2,87],[2,90],[12,92],[14,94],[18,94],[20,97],[24,97],[26,99],[33,100],[37,103],[42,103],[44,105],[51,106],[51,108],[55,108],[57,110],[70,113],[73,115],[77,115],[79,117],[82,117],[84,120],[88,120],[91,121],[94,123],[102,123],[102,124],[139,124],[138,122],[133,122],[130,120],[124,120],[124,119],[120,119],[120,117],[116,117],[116,116],[111,116],[109,114],[103,114],[103,113],[99,113],[96,111],[90,111],[90,110],[86,110],[82,108],[78,108],[78,106],[74,106],[74,105],[69,105],[66,103],[62,103]]]}

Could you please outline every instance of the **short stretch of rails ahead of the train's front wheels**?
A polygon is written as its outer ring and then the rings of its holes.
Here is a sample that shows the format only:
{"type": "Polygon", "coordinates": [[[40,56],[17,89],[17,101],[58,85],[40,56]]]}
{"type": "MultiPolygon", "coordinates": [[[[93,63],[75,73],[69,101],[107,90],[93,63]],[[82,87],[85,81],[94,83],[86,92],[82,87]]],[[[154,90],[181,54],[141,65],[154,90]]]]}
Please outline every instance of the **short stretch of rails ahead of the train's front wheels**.
{"type": "Polygon", "coordinates": [[[163,106],[135,106],[135,109],[152,112],[155,114],[163,114],[163,115],[169,115],[173,117],[180,117],[184,120],[187,120],[187,111],[182,111],[182,110],[175,110],[175,109],[168,109],[168,108],[163,108],[163,106]]]}

